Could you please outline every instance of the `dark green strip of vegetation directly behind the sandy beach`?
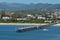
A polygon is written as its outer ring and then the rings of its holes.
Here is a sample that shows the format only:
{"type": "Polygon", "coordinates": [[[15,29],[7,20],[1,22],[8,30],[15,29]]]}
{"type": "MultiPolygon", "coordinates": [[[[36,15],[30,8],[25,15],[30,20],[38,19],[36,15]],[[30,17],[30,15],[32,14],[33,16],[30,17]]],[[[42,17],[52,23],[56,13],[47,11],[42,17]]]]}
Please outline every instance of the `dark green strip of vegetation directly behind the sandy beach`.
{"type": "Polygon", "coordinates": [[[44,20],[0,20],[0,23],[44,23],[44,20]]]}

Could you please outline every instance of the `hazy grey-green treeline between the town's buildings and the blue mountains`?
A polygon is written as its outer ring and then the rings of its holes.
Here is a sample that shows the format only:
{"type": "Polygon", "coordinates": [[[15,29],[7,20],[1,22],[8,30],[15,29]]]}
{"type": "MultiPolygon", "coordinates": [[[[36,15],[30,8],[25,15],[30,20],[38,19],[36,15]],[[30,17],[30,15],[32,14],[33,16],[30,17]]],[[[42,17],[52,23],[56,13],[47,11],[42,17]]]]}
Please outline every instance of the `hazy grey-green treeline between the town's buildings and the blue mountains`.
{"type": "Polygon", "coordinates": [[[27,14],[32,14],[32,15],[42,15],[42,14],[46,14],[46,13],[52,13],[52,11],[41,11],[41,10],[14,10],[14,11],[5,11],[5,10],[1,10],[0,14],[6,14],[7,12],[13,12],[14,15],[16,16],[25,16],[27,14]]]}

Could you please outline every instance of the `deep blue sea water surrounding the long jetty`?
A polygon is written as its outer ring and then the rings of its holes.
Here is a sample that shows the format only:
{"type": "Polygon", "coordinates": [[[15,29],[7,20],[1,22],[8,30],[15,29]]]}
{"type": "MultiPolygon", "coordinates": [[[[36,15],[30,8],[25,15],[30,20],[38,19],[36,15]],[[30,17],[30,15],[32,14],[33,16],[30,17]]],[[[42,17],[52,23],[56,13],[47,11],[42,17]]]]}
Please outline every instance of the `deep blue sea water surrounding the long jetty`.
{"type": "Polygon", "coordinates": [[[28,27],[23,25],[0,25],[0,40],[60,40],[60,27],[48,26],[44,29],[17,33],[16,28],[28,27]]]}

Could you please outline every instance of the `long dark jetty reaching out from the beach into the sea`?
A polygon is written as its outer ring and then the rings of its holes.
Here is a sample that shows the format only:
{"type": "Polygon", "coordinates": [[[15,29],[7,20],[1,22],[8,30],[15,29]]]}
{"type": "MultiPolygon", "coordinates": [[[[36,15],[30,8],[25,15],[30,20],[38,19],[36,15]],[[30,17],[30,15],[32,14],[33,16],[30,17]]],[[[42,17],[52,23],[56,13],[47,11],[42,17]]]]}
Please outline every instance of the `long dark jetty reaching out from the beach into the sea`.
{"type": "Polygon", "coordinates": [[[31,31],[31,30],[37,30],[37,29],[42,29],[44,27],[47,27],[48,25],[38,25],[38,26],[31,26],[31,27],[25,27],[25,28],[17,28],[16,32],[26,32],[26,31],[31,31]]]}

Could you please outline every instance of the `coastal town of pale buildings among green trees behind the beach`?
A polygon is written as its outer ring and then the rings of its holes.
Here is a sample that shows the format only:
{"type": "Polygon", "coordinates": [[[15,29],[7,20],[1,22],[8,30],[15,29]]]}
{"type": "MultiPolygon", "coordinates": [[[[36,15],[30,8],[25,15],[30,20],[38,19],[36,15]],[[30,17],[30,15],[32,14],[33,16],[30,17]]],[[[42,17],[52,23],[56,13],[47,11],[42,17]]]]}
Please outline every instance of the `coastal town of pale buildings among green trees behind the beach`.
{"type": "Polygon", "coordinates": [[[0,11],[1,23],[52,23],[60,22],[60,12],[5,12],[0,11]]]}

